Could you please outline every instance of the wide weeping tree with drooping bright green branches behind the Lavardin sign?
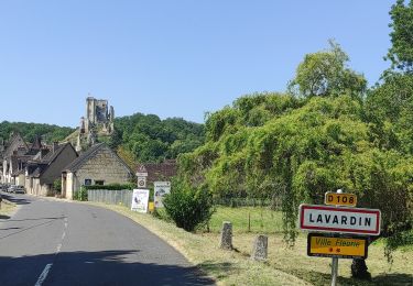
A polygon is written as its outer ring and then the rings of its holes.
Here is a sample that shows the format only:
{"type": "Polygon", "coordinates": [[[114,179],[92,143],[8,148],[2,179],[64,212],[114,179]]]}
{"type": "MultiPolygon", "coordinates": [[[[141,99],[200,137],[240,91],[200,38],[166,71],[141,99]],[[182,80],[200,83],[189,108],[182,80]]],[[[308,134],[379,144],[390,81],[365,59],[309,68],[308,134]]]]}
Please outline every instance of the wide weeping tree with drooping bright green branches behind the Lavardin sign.
{"type": "Polygon", "coordinates": [[[180,157],[181,176],[215,197],[282,198],[284,240],[297,235],[298,205],[344,188],[382,211],[382,235],[412,227],[413,158],[376,142],[350,95],[297,99],[260,94],[209,114],[207,142],[180,157]]]}

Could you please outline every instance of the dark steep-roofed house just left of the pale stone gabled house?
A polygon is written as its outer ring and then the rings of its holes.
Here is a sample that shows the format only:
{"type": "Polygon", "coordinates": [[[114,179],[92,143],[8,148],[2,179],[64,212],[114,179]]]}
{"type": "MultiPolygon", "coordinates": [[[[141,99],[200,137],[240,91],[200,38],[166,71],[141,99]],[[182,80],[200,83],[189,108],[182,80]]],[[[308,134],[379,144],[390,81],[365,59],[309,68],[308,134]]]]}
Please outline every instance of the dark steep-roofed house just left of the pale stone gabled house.
{"type": "Polygon", "coordinates": [[[53,143],[47,153],[40,151],[25,167],[25,189],[35,196],[55,195],[53,184],[61,178],[62,170],[77,158],[77,153],[70,143],[53,143]]]}

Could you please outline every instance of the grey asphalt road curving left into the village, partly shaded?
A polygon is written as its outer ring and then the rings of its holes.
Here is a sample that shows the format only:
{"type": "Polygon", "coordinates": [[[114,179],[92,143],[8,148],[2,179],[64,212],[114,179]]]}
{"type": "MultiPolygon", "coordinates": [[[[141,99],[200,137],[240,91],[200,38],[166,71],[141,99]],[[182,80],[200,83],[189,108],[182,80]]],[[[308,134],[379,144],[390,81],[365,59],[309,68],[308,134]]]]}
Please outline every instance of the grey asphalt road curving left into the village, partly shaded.
{"type": "Polygon", "coordinates": [[[0,216],[0,285],[214,285],[178,252],[116,212],[26,195],[0,216]]]}

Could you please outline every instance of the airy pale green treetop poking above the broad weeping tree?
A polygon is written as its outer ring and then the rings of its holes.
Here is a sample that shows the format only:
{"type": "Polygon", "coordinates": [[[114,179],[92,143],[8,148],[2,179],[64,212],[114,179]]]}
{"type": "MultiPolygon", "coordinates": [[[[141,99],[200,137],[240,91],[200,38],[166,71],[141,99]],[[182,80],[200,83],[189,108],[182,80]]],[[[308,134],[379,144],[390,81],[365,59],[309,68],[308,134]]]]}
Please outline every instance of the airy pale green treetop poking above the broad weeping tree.
{"type": "Polygon", "coordinates": [[[346,66],[348,55],[337,43],[329,41],[329,50],[305,55],[289,85],[292,94],[302,97],[363,95],[367,85],[365,77],[346,66]]]}

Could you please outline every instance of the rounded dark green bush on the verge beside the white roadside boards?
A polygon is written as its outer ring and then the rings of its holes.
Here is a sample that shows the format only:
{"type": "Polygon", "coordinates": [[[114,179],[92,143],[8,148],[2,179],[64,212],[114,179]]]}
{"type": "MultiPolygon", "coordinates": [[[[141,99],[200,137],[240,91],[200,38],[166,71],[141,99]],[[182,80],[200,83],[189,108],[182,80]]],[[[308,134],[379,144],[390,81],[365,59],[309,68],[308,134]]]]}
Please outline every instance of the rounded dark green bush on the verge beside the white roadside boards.
{"type": "Polygon", "coordinates": [[[210,219],[215,209],[206,188],[194,188],[180,179],[174,179],[172,186],[173,189],[165,196],[163,205],[176,227],[193,231],[210,219]]]}

